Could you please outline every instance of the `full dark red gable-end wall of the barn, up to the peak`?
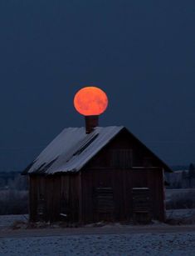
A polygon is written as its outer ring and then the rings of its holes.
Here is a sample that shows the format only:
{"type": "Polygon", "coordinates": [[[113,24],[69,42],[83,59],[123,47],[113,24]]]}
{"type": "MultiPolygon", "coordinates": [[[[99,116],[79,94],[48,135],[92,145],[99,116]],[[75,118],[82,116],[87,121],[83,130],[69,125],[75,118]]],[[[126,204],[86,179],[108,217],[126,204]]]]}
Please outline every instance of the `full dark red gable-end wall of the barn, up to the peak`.
{"type": "MultiPolygon", "coordinates": [[[[163,221],[161,165],[154,154],[128,132],[119,133],[81,171],[83,220],[90,222],[108,218],[117,221],[132,218],[132,188],[147,187],[151,193],[153,218],[163,221]],[[109,213],[110,209],[107,209],[105,214],[97,213],[99,199],[95,195],[95,189],[104,187],[113,190],[115,204],[113,214],[109,213]]],[[[108,202],[108,205],[110,203],[108,202]]]]}

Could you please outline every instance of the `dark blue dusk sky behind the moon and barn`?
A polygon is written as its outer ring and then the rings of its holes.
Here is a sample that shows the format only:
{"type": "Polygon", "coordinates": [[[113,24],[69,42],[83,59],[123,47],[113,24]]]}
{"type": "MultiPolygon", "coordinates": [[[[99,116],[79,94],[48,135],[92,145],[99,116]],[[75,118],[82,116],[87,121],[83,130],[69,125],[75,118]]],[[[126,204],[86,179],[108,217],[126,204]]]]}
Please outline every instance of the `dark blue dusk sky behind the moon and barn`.
{"type": "Polygon", "coordinates": [[[195,2],[0,1],[0,167],[21,169],[103,88],[100,125],[123,124],[168,164],[195,162],[195,2]]]}

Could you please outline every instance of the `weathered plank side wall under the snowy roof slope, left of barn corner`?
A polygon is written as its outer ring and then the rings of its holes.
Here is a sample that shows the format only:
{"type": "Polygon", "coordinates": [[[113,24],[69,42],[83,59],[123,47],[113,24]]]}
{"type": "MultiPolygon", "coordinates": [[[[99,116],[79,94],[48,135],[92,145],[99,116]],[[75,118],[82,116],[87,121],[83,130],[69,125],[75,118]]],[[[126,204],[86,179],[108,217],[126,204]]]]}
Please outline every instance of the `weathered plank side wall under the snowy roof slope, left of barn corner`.
{"type": "Polygon", "coordinates": [[[78,182],[78,174],[30,176],[30,220],[78,221],[78,182]]]}

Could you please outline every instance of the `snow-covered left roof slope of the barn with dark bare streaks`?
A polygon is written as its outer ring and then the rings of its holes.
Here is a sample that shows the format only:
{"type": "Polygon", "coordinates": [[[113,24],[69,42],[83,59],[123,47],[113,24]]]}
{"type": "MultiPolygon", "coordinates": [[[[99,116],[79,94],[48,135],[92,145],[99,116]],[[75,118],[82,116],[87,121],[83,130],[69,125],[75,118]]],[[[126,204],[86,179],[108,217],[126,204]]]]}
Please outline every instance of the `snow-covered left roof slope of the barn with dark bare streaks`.
{"type": "Polygon", "coordinates": [[[123,128],[97,127],[90,134],[85,133],[85,128],[65,128],[35,159],[27,173],[78,172],[123,128]]]}

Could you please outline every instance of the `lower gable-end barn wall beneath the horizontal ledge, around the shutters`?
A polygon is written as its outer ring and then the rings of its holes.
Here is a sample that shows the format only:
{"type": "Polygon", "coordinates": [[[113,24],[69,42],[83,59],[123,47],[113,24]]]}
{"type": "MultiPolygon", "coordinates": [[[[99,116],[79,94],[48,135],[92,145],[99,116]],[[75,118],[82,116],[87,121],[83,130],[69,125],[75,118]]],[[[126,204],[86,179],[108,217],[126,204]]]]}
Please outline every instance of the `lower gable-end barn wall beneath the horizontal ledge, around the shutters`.
{"type": "MultiPolygon", "coordinates": [[[[81,173],[82,216],[85,223],[126,221],[132,218],[132,188],[148,187],[151,193],[151,211],[154,219],[164,220],[163,173],[160,168],[136,169],[88,169],[81,173]],[[112,188],[114,198],[113,212],[97,208],[96,188],[112,188]]],[[[110,204],[108,205],[110,207],[110,204]]]]}

